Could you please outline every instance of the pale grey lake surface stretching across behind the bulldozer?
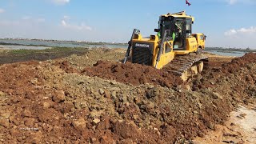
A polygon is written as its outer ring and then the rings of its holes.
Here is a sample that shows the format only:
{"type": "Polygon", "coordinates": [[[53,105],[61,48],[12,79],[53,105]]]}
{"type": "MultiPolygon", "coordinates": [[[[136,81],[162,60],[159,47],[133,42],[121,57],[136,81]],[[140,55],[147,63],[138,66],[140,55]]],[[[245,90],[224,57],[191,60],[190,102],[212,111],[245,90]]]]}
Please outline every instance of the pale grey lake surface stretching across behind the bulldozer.
{"type": "MultiPolygon", "coordinates": [[[[87,47],[87,48],[98,48],[98,47],[108,47],[108,48],[124,48],[128,47],[127,44],[115,44],[115,43],[100,43],[100,42],[75,42],[75,41],[42,41],[42,40],[19,40],[19,39],[0,39],[2,43],[10,43],[10,45],[0,45],[1,49],[10,50],[43,50],[50,47],[87,47]]],[[[246,52],[232,51],[232,50],[205,50],[206,52],[212,54],[218,54],[223,56],[235,56],[241,57],[246,54],[246,52]]]]}

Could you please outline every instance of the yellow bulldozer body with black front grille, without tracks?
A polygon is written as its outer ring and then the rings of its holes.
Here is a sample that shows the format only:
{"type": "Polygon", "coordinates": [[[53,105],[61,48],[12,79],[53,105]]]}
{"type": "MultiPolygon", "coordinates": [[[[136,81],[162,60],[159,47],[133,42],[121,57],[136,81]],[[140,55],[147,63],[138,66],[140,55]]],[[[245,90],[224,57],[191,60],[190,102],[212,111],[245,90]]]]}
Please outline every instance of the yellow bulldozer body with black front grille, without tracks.
{"type": "MultiPolygon", "coordinates": [[[[132,53],[131,59],[134,63],[140,63],[149,66],[155,66],[157,69],[162,69],[163,66],[166,66],[169,62],[171,62],[177,55],[185,55],[190,53],[198,52],[198,49],[203,50],[205,48],[205,39],[206,36],[204,34],[190,34],[191,33],[191,25],[194,23],[194,18],[185,14],[185,12],[180,12],[176,14],[164,14],[160,16],[160,22],[165,20],[176,18],[180,19],[181,23],[184,22],[189,23],[184,24],[187,27],[190,27],[190,30],[187,30],[184,26],[184,30],[179,30],[180,35],[183,34],[184,38],[178,42],[175,38],[172,38],[169,34],[169,38],[166,38],[165,41],[161,43],[161,36],[158,35],[150,35],[150,38],[142,38],[142,34],[134,34],[132,38],[132,53]],[[163,20],[162,20],[163,19],[163,20]],[[177,41],[177,42],[176,42],[177,41]],[[162,48],[160,49],[160,47],[162,48]],[[162,52],[159,55],[159,50],[162,52]],[[158,59],[159,55],[159,59],[158,59]]],[[[171,22],[171,21],[170,21],[171,22]]],[[[161,26],[159,26],[161,27],[161,26]]],[[[173,29],[170,27],[170,30],[173,29]]],[[[174,34],[174,30],[173,30],[174,34]]],[[[162,36],[163,37],[163,36],[162,36]]]]}

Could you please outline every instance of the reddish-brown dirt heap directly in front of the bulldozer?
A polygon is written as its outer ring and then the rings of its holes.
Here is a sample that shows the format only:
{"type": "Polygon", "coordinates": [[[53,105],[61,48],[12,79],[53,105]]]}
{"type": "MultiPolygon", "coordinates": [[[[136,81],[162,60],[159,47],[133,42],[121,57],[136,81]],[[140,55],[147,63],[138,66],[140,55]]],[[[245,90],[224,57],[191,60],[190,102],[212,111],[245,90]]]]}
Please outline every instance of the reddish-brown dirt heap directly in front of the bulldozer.
{"type": "Polygon", "coordinates": [[[115,80],[117,82],[130,83],[134,86],[151,83],[160,86],[178,86],[182,80],[164,70],[157,70],[152,66],[142,66],[126,62],[106,62],[98,61],[93,67],[86,67],[82,73],[89,76],[97,76],[115,80]]]}

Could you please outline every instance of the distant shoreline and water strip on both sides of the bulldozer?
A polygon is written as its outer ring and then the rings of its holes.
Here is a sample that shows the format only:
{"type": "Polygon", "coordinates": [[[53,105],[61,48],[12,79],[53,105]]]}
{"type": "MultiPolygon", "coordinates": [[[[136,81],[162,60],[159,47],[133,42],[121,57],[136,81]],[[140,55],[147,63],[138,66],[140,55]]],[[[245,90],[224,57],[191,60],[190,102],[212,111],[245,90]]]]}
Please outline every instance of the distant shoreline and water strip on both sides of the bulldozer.
{"type": "MultiPolygon", "coordinates": [[[[123,48],[126,49],[126,43],[114,42],[84,42],[84,41],[60,41],[60,40],[45,40],[45,39],[23,39],[23,38],[0,38],[1,49],[47,49],[55,48],[123,48]],[[19,47],[21,46],[21,48],[19,47]]],[[[206,47],[206,52],[222,55],[240,56],[245,53],[256,52],[256,49],[240,49],[240,48],[223,48],[223,47],[206,47]]]]}

